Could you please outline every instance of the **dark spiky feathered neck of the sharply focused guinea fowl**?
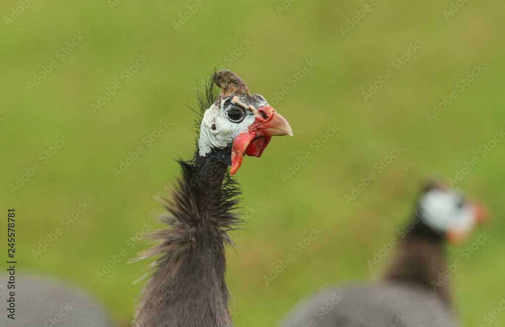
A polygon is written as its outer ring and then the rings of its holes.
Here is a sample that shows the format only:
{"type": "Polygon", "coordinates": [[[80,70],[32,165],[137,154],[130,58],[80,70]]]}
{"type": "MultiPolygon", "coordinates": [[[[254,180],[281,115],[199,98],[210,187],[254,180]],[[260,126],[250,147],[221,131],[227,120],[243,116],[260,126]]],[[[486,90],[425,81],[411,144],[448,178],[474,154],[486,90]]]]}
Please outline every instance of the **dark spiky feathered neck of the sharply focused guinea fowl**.
{"type": "MultiPolygon", "coordinates": [[[[197,150],[198,151],[198,150],[197,150]]],[[[162,200],[171,228],[158,230],[161,244],[139,258],[158,255],[145,287],[135,325],[231,327],[226,287],[227,230],[241,222],[232,212],[239,194],[227,164],[215,156],[195,155],[180,162],[182,177],[162,200]]]]}

